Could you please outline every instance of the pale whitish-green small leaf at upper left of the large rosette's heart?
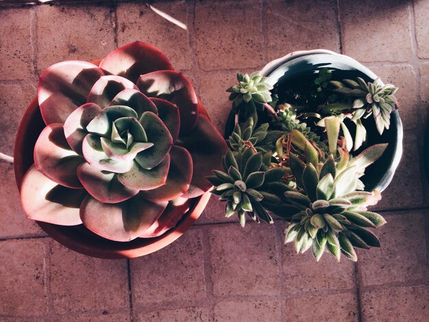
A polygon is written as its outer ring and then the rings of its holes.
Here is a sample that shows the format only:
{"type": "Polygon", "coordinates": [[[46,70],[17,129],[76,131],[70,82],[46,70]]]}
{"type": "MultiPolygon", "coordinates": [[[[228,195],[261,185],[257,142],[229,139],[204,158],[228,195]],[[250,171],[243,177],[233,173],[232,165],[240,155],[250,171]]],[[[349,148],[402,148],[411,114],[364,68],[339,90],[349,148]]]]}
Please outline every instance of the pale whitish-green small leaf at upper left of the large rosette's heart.
{"type": "Polygon", "coordinates": [[[137,113],[128,106],[109,106],[101,110],[93,121],[86,125],[86,131],[109,138],[112,132],[112,122],[122,117],[136,118],[137,113]]]}

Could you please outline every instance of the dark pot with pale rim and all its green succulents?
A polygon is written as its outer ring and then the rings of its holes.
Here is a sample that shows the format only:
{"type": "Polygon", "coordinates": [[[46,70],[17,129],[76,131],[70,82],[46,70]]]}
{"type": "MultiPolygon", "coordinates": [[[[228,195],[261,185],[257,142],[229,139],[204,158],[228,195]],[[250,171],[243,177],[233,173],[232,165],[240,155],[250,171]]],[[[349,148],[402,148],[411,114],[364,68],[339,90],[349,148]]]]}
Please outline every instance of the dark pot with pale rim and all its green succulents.
{"type": "Polygon", "coordinates": [[[379,247],[371,228],[385,221],[378,202],[402,153],[393,85],[352,58],[301,51],[237,74],[225,131],[223,171],[209,179],[225,214],[273,223],[286,219],[285,243],[356,261],[355,247],[379,247]],[[368,175],[370,173],[370,175],[368,175]],[[367,175],[365,175],[367,174],[367,175]]]}

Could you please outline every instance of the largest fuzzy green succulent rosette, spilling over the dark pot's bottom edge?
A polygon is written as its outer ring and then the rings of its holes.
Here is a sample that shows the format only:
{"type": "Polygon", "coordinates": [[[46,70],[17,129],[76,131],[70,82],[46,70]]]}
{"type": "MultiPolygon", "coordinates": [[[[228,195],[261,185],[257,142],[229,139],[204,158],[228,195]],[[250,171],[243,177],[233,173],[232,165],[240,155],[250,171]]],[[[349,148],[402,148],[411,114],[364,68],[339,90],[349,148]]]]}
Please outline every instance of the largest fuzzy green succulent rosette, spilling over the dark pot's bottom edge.
{"type": "MultiPolygon", "coordinates": [[[[302,147],[302,138],[299,134],[297,137],[291,143],[302,147]]],[[[310,142],[306,141],[306,145],[310,142]]],[[[336,260],[343,253],[356,261],[354,247],[380,247],[378,238],[367,229],[386,223],[380,214],[367,211],[367,206],[377,203],[380,195],[363,191],[359,177],[386,147],[372,145],[355,158],[350,158],[347,149],[339,148],[338,153],[330,153],[325,160],[314,153],[308,158],[305,149],[297,147],[302,153],[289,156],[297,186],[284,193],[284,201],[295,208],[285,230],[285,243],[294,242],[295,250],[301,253],[312,248],[317,261],[325,250],[336,260]]]]}

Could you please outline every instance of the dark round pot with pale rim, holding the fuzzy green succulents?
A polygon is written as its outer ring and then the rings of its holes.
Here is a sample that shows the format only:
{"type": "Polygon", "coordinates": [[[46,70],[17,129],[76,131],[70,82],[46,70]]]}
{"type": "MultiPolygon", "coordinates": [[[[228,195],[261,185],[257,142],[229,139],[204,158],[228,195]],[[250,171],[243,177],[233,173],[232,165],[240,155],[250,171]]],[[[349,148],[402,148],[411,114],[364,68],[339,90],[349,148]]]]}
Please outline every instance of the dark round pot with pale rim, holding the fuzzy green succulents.
{"type": "MultiPolygon", "coordinates": [[[[343,71],[342,73],[347,77],[363,77],[367,81],[373,81],[377,78],[376,74],[356,60],[325,49],[289,53],[282,58],[269,62],[262,69],[261,75],[268,77],[267,82],[269,84],[277,86],[297,75],[314,75],[316,71],[323,67],[343,71]]],[[[366,169],[362,178],[365,190],[372,191],[376,189],[382,192],[393,179],[402,156],[403,129],[400,114],[397,110],[391,114],[391,126],[388,130],[384,130],[382,136],[378,134],[372,117],[364,121],[366,121],[365,128],[367,129],[367,146],[377,143],[389,143],[382,157],[366,169]]],[[[230,136],[234,130],[235,123],[235,115],[230,114],[225,127],[225,138],[230,136]]]]}

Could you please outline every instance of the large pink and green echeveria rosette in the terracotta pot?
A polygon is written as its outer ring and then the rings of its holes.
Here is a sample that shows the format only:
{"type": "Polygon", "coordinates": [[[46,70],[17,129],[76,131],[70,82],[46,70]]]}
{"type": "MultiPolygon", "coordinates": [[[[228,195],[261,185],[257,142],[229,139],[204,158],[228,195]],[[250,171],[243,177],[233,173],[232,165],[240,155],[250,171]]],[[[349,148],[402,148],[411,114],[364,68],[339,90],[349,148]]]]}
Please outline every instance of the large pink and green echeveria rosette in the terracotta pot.
{"type": "Polygon", "coordinates": [[[99,66],[54,64],[40,75],[38,103],[47,127],[23,178],[25,212],[111,240],[174,227],[227,149],[188,79],[144,42],[99,66]]]}

